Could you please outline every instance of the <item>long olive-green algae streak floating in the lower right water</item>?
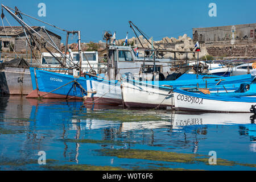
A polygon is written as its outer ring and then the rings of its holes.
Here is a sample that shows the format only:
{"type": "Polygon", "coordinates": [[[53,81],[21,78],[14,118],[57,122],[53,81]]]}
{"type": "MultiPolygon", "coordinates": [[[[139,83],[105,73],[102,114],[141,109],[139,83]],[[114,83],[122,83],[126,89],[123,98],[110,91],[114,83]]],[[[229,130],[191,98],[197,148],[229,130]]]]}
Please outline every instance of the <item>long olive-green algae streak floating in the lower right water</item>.
{"type": "MultiPolygon", "coordinates": [[[[177,152],[164,152],[154,150],[134,150],[134,149],[119,149],[119,150],[96,150],[105,156],[116,156],[118,158],[129,159],[146,159],[164,162],[177,162],[177,163],[199,163],[203,162],[209,164],[209,156],[199,154],[181,154],[177,152]]],[[[226,159],[217,158],[217,166],[247,166],[256,167],[256,164],[241,164],[226,159]]],[[[215,165],[214,165],[215,166],[215,165]]]]}

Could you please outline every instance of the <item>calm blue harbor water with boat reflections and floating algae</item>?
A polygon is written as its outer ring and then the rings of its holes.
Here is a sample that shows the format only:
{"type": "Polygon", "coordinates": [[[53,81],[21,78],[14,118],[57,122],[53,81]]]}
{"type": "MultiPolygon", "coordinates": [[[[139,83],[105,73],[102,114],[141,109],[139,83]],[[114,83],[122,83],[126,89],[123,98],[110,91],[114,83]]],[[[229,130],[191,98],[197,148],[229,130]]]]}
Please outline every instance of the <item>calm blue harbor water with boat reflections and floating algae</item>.
{"type": "Polygon", "coordinates": [[[175,113],[0,98],[0,170],[255,167],[251,113],[175,113]]]}

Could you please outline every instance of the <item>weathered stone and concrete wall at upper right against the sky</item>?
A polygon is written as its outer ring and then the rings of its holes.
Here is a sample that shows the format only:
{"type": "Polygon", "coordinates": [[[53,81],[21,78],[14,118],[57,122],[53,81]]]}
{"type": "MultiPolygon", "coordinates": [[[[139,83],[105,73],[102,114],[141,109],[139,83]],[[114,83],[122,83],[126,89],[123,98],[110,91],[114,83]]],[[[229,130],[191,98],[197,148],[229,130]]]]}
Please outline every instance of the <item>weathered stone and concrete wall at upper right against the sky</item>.
{"type": "Polygon", "coordinates": [[[199,42],[215,57],[256,57],[256,23],[193,28],[193,42],[199,42]]]}

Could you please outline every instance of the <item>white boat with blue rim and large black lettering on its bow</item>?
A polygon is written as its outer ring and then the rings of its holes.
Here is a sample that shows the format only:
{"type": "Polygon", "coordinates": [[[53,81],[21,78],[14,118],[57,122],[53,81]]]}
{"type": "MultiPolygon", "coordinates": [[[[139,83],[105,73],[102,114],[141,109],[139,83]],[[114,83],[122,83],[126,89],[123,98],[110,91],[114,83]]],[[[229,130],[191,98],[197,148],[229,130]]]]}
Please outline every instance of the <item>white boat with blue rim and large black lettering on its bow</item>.
{"type": "Polygon", "coordinates": [[[175,110],[219,113],[250,113],[256,98],[212,96],[174,88],[175,110]]]}

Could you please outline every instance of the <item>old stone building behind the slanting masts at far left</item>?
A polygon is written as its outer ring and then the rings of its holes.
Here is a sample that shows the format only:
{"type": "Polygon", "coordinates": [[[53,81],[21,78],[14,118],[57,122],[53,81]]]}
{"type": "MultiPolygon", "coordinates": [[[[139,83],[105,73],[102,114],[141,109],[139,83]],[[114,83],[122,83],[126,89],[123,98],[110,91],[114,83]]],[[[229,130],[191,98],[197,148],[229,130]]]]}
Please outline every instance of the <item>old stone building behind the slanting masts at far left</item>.
{"type": "MultiPolygon", "coordinates": [[[[56,46],[60,48],[61,36],[45,29],[47,31],[46,32],[42,27],[33,26],[32,28],[36,32],[38,32],[38,34],[42,35],[45,40],[52,43],[48,37],[49,35],[53,40],[53,42],[55,42],[56,46]]],[[[45,40],[42,40],[41,38],[39,38],[39,36],[36,35],[34,31],[31,31],[31,32],[40,40],[41,47],[47,46],[47,42],[45,40]]],[[[26,32],[26,34],[28,36],[28,39],[30,40],[31,38],[28,32],[26,32]]],[[[15,52],[22,52],[26,49],[30,49],[29,45],[27,46],[27,43],[26,43],[27,42],[26,34],[23,31],[23,27],[19,27],[19,26],[13,26],[13,27],[6,26],[5,28],[0,27],[0,40],[2,42],[2,51],[3,52],[12,51],[12,49],[14,48],[15,52]]],[[[31,44],[32,46],[35,46],[35,43],[31,43],[31,44]]]]}

